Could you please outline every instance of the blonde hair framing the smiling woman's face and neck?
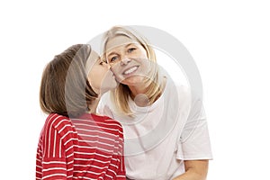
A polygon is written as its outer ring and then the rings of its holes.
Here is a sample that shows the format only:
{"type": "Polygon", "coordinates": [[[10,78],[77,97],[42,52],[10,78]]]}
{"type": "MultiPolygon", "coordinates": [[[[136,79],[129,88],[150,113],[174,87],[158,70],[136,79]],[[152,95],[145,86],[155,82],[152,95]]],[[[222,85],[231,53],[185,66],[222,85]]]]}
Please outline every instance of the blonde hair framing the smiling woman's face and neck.
{"type": "MultiPolygon", "coordinates": [[[[151,72],[148,78],[145,79],[146,95],[149,103],[154,103],[162,93],[160,77],[158,73],[157,59],[154,49],[148,44],[148,41],[140,35],[137,31],[132,30],[127,26],[114,26],[109,31],[106,31],[103,35],[102,51],[103,58],[106,57],[106,45],[109,40],[116,36],[126,36],[131,40],[136,40],[146,50],[148,59],[153,61],[154,65],[151,68],[151,72]]],[[[130,111],[129,98],[131,91],[128,85],[120,84],[115,90],[112,90],[112,101],[116,106],[118,112],[123,112],[126,115],[132,116],[133,112],[130,111]]]]}

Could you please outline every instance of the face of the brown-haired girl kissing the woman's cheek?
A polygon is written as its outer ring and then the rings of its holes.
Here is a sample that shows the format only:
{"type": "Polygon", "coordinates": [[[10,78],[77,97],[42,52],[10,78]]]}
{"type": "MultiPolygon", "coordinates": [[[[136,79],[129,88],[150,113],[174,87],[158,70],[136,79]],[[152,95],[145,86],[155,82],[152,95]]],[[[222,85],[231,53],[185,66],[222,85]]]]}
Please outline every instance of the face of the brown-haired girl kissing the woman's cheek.
{"type": "Polygon", "coordinates": [[[110,65],[98,56],[94,51],[91,52],[86,63],[86,72],[88,68],[88,81],[94,89],[94,92],[99,94],[105,93],[117,86],[115,76],[110,70],[110,65]],[[89,63],[87,65],[87,63],[89,63]]]}

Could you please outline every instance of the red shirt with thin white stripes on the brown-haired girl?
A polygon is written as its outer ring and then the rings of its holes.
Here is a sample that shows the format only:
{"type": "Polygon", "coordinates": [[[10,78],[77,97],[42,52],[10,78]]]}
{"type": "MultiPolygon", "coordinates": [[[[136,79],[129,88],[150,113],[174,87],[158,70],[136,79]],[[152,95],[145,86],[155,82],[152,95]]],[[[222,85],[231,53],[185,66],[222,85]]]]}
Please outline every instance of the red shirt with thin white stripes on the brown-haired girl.
{"type": "Polygon", "coordinates": [[[36,179],[126,179],[121,124],[94,114],[49,114],[40,133],[36,179]]]}

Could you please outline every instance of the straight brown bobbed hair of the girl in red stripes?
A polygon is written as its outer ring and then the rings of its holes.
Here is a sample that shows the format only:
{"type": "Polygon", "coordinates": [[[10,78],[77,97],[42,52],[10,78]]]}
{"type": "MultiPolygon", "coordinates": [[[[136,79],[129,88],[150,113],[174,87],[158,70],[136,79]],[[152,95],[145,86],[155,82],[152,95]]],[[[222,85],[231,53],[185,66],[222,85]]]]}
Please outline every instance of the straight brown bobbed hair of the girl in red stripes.
{"type": "Polygon", "coordinates": [[[88,111],[98,94],[87,80],[88,44],[76,44],[55,56],[45,67],[40,83],[40,108],[45,113],[77,117],[88,111]]]}

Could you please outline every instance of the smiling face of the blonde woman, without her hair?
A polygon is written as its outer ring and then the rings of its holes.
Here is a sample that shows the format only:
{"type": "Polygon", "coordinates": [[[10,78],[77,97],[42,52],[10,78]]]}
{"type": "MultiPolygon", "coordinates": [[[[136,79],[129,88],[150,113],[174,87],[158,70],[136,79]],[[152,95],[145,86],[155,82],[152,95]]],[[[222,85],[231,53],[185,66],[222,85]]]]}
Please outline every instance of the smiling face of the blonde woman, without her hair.
{"type": "Polygon", "coordinates": [[[116,36],[107,41],[105,49],[105,58],[121,84],[139,85],[148,76],[150,60],[138,41],[124,35],[116,36]]]}

